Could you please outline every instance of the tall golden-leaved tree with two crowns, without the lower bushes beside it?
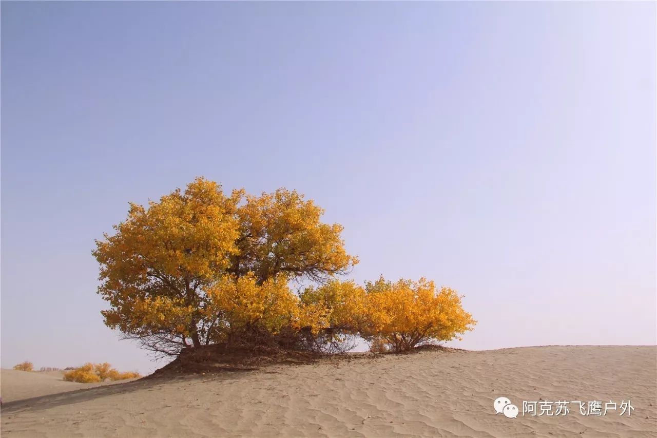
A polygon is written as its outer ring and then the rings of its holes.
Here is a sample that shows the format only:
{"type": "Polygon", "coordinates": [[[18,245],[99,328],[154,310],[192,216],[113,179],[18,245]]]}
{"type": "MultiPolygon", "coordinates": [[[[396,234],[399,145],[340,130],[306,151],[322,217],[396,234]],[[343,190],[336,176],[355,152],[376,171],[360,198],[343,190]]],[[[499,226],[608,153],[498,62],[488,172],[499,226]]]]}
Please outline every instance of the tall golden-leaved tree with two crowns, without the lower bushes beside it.
{"type": "MultiPolygon", "coordinates": [[[[325,281],[357,263],[344,249],[342,226],[324,224],[322,214],[296,191],[225,195],[204,178],[147,207],[131,203],[93,251],[109,303],[105,324],[161,354],[223,341],[240,324],[277,328],[281,315],[248,320],[253,309],[240,306],[274,294],[288,312],[290,303],[299,306],[286,281],[325,281]]],[[[286,323],[308,320],[294,312],[286,323]]]]}

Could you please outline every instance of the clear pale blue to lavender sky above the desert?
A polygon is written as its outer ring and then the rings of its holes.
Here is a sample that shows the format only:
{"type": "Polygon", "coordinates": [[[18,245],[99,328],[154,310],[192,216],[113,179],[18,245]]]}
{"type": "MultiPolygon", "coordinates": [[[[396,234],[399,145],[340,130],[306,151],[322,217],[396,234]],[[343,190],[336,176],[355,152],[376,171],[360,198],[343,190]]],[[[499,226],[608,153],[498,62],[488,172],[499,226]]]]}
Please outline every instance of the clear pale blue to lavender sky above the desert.
{"type": "Polygon", "coordinates": [[[1,3],[1,365],[162,363],[94,239],[196,176],[297,189],[464,349],[657,344],[656,4],[1,3]]]}

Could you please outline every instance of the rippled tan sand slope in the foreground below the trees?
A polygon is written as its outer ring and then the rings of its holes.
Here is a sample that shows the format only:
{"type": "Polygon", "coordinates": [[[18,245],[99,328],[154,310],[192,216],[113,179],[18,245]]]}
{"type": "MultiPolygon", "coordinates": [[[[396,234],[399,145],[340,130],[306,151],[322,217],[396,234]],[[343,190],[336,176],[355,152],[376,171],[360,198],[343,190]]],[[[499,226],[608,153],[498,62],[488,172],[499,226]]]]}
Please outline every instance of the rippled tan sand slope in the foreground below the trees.
{"type": "Polygon", "coordinates": [[[1,420],[3,437],[657,437],[657,347],[430,351],[145,379],[5,403],[1,420]],[[630,399],[635,410],[505,418],[500,396],[630,399]]]}

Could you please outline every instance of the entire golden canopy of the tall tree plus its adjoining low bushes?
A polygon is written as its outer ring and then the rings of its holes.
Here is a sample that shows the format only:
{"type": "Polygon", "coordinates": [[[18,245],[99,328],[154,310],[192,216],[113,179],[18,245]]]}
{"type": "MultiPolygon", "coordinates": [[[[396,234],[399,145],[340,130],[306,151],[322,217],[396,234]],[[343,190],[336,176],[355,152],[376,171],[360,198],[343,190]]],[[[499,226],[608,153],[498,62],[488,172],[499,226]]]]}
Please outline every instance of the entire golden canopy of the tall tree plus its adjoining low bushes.
{"type": "Polygon", "coordinates": [[[432,281],[338,280],[358,260],[322,214],[296,191],[226,195],[204,178],[131,203],[93,251],[105,324],[158,354],[238,341],[336,353],[357,336],[405,351],[472,328],[432,281]],[[297,294],[292,280],[314,285],[297,294]]]}

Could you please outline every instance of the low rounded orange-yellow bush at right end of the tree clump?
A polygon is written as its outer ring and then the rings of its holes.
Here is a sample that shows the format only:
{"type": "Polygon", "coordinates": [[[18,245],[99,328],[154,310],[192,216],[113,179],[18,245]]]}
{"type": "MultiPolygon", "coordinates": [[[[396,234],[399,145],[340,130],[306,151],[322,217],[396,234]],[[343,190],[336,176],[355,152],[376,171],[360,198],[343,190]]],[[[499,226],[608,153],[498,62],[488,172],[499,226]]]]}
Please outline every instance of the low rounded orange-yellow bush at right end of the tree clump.
{"type": "Polygon", "coordinates": [[[407,351],[428,341],[461,339],[476,321],[463,310],[461,296],[449,287],[436,291],[433,281],[383,278],[367,283],[365,337],[382,338],[394,351],[407,351]]]}

